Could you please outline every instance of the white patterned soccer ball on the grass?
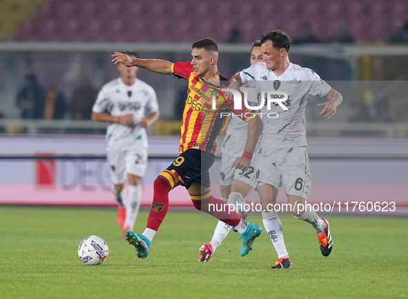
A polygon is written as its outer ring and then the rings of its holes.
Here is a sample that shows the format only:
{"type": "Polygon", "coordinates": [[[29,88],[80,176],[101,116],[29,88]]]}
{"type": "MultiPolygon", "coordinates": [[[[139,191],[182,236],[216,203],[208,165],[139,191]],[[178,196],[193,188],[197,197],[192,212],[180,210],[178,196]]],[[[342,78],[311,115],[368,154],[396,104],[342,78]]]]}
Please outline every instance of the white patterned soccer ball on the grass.
{"type": "Polygon", "coordinates": [[[90,235],[79,244],[78,256],[84,264],[101,264],[108,257],[108,244],[104,239],[90,235]]]}

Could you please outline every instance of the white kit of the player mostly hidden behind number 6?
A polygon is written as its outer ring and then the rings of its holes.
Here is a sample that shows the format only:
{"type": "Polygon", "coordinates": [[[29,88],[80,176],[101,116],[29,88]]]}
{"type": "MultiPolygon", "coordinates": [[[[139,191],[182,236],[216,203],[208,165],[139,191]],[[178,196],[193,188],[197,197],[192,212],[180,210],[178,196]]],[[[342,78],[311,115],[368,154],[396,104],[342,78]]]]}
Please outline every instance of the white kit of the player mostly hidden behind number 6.
{"type": "MultiPolygon", "coordinates": [[[[249,104],[251,106],[258,105],[257,102],[253,102],[256,99],[255,88],[242,86],[242,91],[246,90],[248,93],[249,104]]],[[[230,122],[226,129],[224,142],[222,143],[222,157],[221,157],[221,173],[220,173],[220,185],[229,186],[232,185],[234,180],[240,180],[252,188],[255,187],[255,162],[251,160],[251,164],[246,171],[240,169],[231,168],[233,162],[242,156],[244,153],[246,139],[248,132],[248,122],[243,121],[236,115],[230,116],[230,122]]],[[[258,148],[255,148],[256,153],[258,148]]]]}

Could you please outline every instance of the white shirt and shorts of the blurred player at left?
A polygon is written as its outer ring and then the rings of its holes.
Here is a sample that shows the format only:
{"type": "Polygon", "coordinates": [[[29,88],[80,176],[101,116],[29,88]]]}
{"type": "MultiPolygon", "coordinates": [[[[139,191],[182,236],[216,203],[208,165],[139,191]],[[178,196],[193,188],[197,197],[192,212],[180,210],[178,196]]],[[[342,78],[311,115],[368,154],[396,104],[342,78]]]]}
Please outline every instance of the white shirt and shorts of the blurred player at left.
{"type": "Polygon", "coordinates": [[[113,184],[126,182],[127,173],[143,177],[147,165],[146,129],[139,122],[146,113],[159,110],[155,90],[144,81],[135,79],[127,86],[121,78],[105,84],[99,91],[92,109],[95,113],[113,116],[133,115],[133,124],[109,124],[106,130],[106,157],[113,184]]]}

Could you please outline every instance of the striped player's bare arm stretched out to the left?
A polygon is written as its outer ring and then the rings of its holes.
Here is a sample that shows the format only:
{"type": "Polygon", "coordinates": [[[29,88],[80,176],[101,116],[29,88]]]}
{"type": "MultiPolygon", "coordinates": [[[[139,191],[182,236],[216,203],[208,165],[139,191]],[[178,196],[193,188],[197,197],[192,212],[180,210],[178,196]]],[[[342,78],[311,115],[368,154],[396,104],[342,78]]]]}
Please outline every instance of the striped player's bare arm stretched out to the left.
{"type": "Polygon", "coordinates": [[[114,52],[112,61],[115,64],[124,64],[125,66],[138,66],[139,68],[146,68],[146,70],[150,70],[155,73],[164,74],[164,75],[172,75],[171,73],[171,63],[170,61],[160,60],[160,59],[139,59],[139,58],[132,58],[129,55],[123,54],[121,52],[114,52]]]}

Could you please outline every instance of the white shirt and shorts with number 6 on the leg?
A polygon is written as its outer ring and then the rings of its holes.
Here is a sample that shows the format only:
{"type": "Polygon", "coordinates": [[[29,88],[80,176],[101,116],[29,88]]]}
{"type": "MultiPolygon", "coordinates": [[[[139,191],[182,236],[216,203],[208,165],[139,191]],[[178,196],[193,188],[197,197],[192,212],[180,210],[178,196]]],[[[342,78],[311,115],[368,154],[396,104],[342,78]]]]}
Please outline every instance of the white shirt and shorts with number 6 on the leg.
{"type": "Polygon", "coordinates": [[[311,175],[304,111],[308,95],[324,97],[331,87],[313,70],[297,64],[289,64],[278,77],[260,62],[242,70],[240,77],[244,84],[255,87],[258,99],[264,100],[258,113],[262,119],[260,148],[255,154],[258,186],[270,184],[278,190],[283,185],[286,195],[307,199],[311,175]]]}

